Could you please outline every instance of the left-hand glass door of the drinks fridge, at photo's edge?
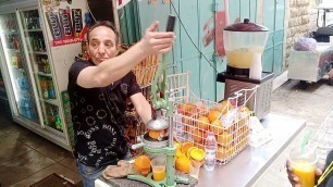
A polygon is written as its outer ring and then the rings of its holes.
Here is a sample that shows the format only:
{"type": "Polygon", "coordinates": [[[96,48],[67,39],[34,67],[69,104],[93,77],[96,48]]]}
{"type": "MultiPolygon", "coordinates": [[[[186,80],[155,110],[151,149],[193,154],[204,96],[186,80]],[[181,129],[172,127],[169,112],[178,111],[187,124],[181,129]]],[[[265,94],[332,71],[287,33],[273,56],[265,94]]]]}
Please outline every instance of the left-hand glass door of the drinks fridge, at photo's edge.
{"type": "Polygon", "coordinates": [[[0,14],[0,40],[13,88],[14,115],[38,125],[38,110],[15,13],[0,14]]]}

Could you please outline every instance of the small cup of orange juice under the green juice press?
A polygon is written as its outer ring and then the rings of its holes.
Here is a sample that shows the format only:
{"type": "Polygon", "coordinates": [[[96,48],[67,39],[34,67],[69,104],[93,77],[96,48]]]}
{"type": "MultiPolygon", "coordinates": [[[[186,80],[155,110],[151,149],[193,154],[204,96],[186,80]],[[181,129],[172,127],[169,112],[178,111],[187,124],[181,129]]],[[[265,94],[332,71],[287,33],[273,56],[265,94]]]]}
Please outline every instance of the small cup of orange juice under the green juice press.
{"type": "Polygon", "coordinates": [[[165,178],[166,158],[156,157],[150,162],[152,169],[152,178],[156,182],[160,182],[165,178]]]}

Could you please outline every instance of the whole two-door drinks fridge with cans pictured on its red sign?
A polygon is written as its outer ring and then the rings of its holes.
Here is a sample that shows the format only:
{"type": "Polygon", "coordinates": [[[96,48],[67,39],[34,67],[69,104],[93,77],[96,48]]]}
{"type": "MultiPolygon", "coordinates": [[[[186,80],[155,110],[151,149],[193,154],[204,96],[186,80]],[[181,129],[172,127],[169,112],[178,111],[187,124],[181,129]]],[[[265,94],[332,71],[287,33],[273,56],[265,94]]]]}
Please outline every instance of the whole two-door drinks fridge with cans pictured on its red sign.
{"type": "Polygon", "coordinates": [[[0,66],[12,117],[71,150],[67,72],[82,54],[85,1],[0,2],[0,66]]]}

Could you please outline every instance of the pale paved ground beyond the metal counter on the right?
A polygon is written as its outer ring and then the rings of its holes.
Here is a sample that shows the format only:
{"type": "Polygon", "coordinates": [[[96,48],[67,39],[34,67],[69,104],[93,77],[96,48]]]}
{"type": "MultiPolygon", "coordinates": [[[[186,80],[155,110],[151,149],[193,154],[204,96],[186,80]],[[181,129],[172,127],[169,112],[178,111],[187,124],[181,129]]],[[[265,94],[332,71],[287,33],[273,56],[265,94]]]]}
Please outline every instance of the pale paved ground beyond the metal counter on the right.
{"type": "Polygon", "coordinates": [[[325,119],[332,117],[333,86],[323,78],[300,89],[297,80],[289,80],[272,95],[271,112],[307,120],[306,128],[295,138],[286,150],[271,164],[269,170],[254,185],[256,187],[288,187],[285,161],[288,150],[301,141],[309,129],[318,130],[325,119]]]}

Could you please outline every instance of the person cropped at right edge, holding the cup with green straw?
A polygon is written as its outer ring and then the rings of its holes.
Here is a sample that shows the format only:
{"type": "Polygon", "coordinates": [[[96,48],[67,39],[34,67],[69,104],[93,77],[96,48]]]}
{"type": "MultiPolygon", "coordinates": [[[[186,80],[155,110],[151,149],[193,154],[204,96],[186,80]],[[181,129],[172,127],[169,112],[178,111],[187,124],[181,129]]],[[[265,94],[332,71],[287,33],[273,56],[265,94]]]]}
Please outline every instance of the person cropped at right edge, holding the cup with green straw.
{"type": "MultiPolygon", "coordinates": [[[[325,161],[324,170],[316,169],[314,178],[318,187],[333,187],[333,171],[332,171],[332,162],[333,162],[333,149],[329,152],[325,161]],[[330,170],[331,169],[331,170],[330,170]],[[321,175],[324,175],[321,179],[321,175]],[[318,180],[319,179],[319,180],[318,180]]],[[[288,174],[288,179],[294,187],[301,187],[299,184],[299,178],[294,174],[291,164],[286,163],[286,170],[288,174]]]]}

